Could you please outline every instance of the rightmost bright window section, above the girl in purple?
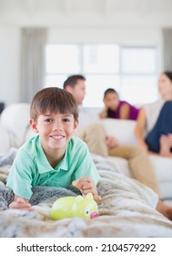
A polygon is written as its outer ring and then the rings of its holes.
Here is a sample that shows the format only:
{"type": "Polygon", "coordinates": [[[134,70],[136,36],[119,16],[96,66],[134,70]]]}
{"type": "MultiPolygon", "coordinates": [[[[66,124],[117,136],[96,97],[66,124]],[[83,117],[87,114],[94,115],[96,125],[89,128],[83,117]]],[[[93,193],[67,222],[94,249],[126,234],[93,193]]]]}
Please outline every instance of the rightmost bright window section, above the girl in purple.
{"type": "Polygon", "coordinates": [[[157,100],[156,59],[156,48],[121,48],[121,98],[138,105],[157,100]]]}

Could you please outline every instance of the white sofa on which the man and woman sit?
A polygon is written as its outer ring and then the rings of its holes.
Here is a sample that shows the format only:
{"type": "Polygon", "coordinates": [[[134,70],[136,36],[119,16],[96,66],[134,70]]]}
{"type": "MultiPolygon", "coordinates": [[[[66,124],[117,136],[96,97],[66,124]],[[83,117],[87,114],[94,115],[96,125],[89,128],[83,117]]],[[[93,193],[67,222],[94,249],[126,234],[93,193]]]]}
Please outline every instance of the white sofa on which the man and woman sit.
{"type": "MultiPolygon", "coordinates": [[[[135,121],[106,119],[100,120],[98,112],[100,109],[87,108],[86,113],[89,120],[85,123],[102,123],[108,135],[116,136],[118,142],[124,145],[137,145],[134,134],[135,121]]],[[[82,112],[80,119],[82,123],[82,112]]],[[[0,116],[0,155],[5,155],[10,148],[21,146],[25,140],[35,135],[31,131],[29,124],[29,104],[11,104],[5,108],[0,116]]],[[[167,204],[172,205],[172,159],[159,155],[149,155],[157,176],[158,185],[162,198],[167,204]]],[[[126,176],[131,176],[128,163],[125,159],[108,156],[106,161],[114,165],[118,171],[126,176]]]]}

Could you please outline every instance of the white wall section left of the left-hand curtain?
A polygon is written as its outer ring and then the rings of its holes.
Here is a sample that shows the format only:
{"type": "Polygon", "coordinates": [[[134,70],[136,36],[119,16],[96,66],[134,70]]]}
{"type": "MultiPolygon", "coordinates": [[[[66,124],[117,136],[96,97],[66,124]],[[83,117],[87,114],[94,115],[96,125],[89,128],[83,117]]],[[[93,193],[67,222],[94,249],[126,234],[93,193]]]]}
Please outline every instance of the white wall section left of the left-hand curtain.
{"type": "Polygon", "coordinates": [[[19,101],[20,33],[19,28],[0,26],[0,101],[19,101]]]}

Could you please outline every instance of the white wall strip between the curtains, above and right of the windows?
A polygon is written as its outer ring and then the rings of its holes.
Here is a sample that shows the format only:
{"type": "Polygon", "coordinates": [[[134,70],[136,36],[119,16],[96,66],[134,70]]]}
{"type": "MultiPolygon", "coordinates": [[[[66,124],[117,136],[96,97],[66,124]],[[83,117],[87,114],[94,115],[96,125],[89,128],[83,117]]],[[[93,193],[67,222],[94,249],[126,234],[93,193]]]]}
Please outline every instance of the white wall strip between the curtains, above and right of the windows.
{"type": "Polygon", "coordinates": [[[160,27],[84,27],[49,28],[49,44],[105,43],[132,46],[157,46],[157,72],[163,70],[163,39],[160,27]]]}

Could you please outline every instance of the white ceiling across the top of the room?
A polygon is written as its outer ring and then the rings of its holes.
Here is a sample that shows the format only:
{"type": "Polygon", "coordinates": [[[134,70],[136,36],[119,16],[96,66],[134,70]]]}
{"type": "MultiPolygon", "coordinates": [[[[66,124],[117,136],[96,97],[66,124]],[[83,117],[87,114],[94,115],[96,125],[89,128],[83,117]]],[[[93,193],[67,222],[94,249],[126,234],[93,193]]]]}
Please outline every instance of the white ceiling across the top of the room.
{"type": "Polygon", "coordinates": [[[22,18],[26,24],[31,16],[33,23],[39,20],[43,25],[101,25],[103,19],[108,25],[129,20],[137,24],[144,19],[147,25],[171,26],[172,0],[0,0],[2,22],[19,24],[22,18]]]}

